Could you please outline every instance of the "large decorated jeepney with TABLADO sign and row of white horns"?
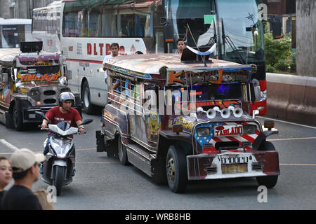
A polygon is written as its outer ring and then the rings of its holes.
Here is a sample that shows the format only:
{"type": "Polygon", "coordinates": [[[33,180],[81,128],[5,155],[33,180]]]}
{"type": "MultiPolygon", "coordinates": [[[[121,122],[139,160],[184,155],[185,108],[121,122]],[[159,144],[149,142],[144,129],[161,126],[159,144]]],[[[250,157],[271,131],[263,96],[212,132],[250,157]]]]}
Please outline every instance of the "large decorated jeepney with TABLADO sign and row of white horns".
{"type": "Polygon", "coordinates": [[[184,51],[113,57],[105,66],[109,92],[96,131],[98,152],[175,193],[204,179],[254,177],[275,186],[279,158],[266,138],[278,131],[270,120],[263,127],[258,111],[250,116],[249,102],[261,99],[258,81],[251,80],[255,65],[184,51]]]}

